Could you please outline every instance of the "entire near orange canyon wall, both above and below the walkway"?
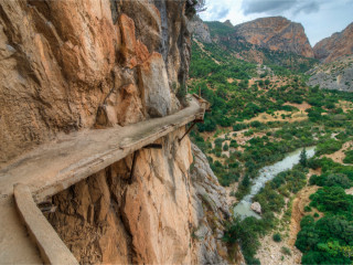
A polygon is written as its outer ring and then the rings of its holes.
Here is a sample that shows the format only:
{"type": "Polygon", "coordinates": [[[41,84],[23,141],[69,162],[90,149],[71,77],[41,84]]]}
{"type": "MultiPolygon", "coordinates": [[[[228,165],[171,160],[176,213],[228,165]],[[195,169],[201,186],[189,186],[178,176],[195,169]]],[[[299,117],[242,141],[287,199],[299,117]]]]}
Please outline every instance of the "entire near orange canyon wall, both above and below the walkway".
{"type": "MultiPolygon", "coordinates": [[[[0,166],[58,134],[179,110],[184,13],[182,0],[2,1],[0,166]]],[[[184,132],[139,150],[132,173],[131,155],[52,198],[79,263],[226,263],[224,190],[184,132]]]]}

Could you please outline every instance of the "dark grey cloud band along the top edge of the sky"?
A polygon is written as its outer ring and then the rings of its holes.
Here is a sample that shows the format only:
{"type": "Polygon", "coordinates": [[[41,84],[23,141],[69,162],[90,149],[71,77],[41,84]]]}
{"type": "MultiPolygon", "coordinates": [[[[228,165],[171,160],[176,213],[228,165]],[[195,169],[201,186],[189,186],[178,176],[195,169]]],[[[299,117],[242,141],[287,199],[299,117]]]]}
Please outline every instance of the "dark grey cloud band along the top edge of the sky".
{"type": "Polygon", "coordinates": [[[284,12],[312,13],[319,11],[320,6],[317,0],[243,0],[242,9],[245,15],[254,13],[279,15],[284,12]]]}

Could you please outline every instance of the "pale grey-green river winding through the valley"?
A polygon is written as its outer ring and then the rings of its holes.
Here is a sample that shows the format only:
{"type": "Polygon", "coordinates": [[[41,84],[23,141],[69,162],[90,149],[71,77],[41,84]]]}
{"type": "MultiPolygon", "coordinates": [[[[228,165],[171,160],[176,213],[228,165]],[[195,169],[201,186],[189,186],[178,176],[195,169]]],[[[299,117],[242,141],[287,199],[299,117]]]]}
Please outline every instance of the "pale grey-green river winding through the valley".
{"type": "MultiPolygon", "coordinates": [[[[307,157],[312,158],[315,153],[315,147],[307,148],[307,157]]],[[[258,178],[255,179],[255,183],[252,186],[250,193],[244,197],[244,199],[234,208],[234,215],[240,216],[242,219],[254,216],[260,219],[261,216],[255,213],[250,205],[253,203],[253,198],[256,195],[265,183],[274,179],[278,173],[291,169],[295,165],[299,163],[300,152],[302,148],[297,149],[296,151],[287,153],[286,158],[281,161],[278,161],[271,166],[266,166],[259,170],[258,178]]]]}

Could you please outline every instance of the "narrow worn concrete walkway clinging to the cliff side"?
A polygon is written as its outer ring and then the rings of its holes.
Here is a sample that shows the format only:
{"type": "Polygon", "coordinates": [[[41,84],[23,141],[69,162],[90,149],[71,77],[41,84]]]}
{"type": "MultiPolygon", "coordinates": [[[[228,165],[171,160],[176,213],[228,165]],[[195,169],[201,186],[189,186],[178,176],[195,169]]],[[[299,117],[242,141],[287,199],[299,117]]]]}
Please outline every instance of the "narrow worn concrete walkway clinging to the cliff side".
{"type": "Polygon", "coordinates": [[[13,186],[23,183],[36,203],[121,160],[169,132],[203,118],[204,109],[190,106],[162,118],[126,127],[78,131],[62,136],[0,168],[0,263],[42,263],[35,244],[20,222],[13,186]]]}

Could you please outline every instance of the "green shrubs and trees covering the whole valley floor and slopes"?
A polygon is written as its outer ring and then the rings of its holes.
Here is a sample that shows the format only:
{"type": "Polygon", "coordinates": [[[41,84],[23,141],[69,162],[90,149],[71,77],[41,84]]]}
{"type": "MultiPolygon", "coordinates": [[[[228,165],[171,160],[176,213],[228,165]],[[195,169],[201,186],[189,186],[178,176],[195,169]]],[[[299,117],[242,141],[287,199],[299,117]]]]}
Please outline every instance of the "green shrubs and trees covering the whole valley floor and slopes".
{"type": "MultiPolygon", "coordinates": [[[[207,24],[212,36],[232,34],[232,28],[223,23],[207,24]]],[[[301,222],[297,246],[306,264],[352,263],[352,255],[347,255],[353,247],[347,239],[353,239],[353,209],[344,189],[352,187],[353,167],[335,163],[324,155],[353,140],[353,112],[336,107],[340,100],[353,102],[353,94],[308,87],[304,72],[315,61],[293,54],[259,50],[269,67],[258,71],[257,64],[246,57],[250,47],[233,40],[193,42],[188,83],[189,93],[200,93],[211,103],[212,110],[206,113],[204,124],[191,131],[191,138],[206,153],[220,183],[238,182],[232,194],[240,200],[264,166],[300,147],[317,146],[317,155],[308,159],[304,149],[299,165],[268,181],[254,197],[261,205],[261,219],[229,220],[224,241],[229,247],[239,242],[246,262],[259,264],[255,258],[259,239],[267,233],[274,233],[274,241],[286,239],[282,230],[290,221],[293,197],[307,186],[309,168],[321,169],[320,176],[309,180],[309,184],[322,188],[304,208],[308,215],[301,222]],[[242,56],[247,61],[237,56],[244,51],[242,56]],[[318,211],[324,216],[320,218],[318,211]],[[341,237],[339,233],[328,235],[340,225],[345,230],[341,237]]],[[[345,155],[344,162],[352,163],[353,151],[345,155]]],[[[287,247],[281,253],[291,255],[287,247]]]]}

